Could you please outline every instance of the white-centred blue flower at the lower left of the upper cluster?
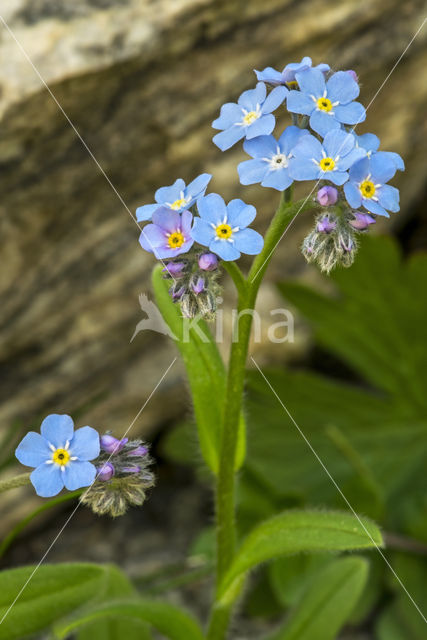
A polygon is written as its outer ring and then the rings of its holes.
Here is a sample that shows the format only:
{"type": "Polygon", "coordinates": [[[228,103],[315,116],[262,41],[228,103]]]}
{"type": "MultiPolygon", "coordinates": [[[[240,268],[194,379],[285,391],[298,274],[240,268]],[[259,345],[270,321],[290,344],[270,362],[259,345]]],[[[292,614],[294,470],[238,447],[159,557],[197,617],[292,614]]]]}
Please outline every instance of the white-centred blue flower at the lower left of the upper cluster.
{"type": "Polygon", "coordinates": [[[274,136],[259,136],[245,140],[243,148],[253,160],[245,160],[237,167],[242,184],[261,182],[263,187],[272,187],[284,191],[292,184],[289,175],[292,164],[292,150],[304,136],[310,134],[306,129],[287,127],[279,140],[274,136]]]}

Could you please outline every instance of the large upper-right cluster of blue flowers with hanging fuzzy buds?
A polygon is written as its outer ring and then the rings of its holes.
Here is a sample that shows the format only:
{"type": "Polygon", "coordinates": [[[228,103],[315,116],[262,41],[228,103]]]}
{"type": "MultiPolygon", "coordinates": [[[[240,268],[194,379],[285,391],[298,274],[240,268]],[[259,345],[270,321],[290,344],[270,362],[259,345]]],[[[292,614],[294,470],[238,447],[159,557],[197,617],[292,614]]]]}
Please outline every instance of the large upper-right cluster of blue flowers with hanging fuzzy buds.
{"type": "Polygon", "coordinates": [[[251,157],[238,166],[243,185],[260,183],[277,191],[294,181],[315,180],[316,203],[327,207],[303,244],[303,254],[329,272],[349,266],[357,249],[357,234],[399,210],[399,192],[387,184],[404,170],[397,153],[379,151],[374,134],[358,136],[354,128],[366,118],[354,71],[332,72],[327,64],[312,66],[311,58],[288,64],[283,71],[255,71],[256,89],[237,103],[227,103],[212,123],[221,133],[213,142],[230,148],[244,138],[251,157]],[[273,87],[267,94],[267,87],[273,87]],[[273,111],[282,103],[292,124],[276,137],[273,111]]]}

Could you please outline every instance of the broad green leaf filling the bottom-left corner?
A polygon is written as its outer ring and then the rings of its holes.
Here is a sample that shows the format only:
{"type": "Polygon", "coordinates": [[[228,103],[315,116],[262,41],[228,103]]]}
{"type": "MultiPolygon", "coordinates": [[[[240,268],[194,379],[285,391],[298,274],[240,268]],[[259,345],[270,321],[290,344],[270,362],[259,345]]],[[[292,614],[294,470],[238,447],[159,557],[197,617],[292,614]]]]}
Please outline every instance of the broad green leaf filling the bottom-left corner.
{"type": "Polygon", "coordinates": [[[21,640],[104,593],[108,569],[94,564],[22,567],[0,573],[0,640],[21,640]]]}

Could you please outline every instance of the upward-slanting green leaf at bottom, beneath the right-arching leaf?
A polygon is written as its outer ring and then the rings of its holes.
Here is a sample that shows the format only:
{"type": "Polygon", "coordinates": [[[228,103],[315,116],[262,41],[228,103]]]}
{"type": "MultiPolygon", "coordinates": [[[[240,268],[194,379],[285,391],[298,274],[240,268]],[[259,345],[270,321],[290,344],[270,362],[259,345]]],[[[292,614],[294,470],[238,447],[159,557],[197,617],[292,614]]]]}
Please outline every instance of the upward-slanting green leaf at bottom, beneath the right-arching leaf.
{"type": "Polygon", "coordinates": [[[363,558],[340,558],[311,580],[289,622],[271,640],[334,640],[368,578],[363,558]]]}

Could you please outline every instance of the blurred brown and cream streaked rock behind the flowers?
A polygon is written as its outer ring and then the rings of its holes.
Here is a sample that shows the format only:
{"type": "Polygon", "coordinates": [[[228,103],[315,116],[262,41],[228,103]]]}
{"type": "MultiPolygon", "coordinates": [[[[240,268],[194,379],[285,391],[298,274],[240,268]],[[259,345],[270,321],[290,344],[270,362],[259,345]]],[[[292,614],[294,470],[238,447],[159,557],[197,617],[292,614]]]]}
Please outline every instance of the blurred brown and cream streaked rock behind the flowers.
{"type": "MultiPolygon", "coordinates": [[[[120,197],[0,23],[0,430],[16,425],[19,434],[50,412],[67,412],[79,424],[124,431],[173,357],[167,339],[151,332],[130,343],[153,264],[130,212],[176,177],[208,171],[211,190],[258,207],[262,231],[277,193],[242,188],[241,147],[221,154],[211,143],[221,104],[253,86],[254,67],[282,68],[309,54],[356,69],[369,105],[424,7],[417,0],[3,1],[4,20],[120,197]]],[[[395,181],[402,212],[383,231],[426,227],[426,38],[424,28],[360,127],[407,166],[395,181]]],[[[310,222],[306,214],[287,234],[270,283],[286,273],[316,277],[297,249],[310,222]]],[[[413,237],[421,246],[422,234],[413,237]]],[[[267,282],[260,308],[276,306],[267,282]]],[[[291,354],[304,342],[298,333],[291,354]]],[[[284,347],[257,348],[266,359],[286,357],[284,347]]],[[[184,389],[177,363],[135,433],[150,436],[182,416],[184,389]]]]}

